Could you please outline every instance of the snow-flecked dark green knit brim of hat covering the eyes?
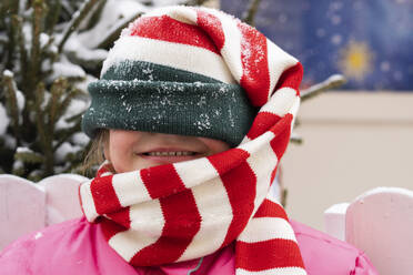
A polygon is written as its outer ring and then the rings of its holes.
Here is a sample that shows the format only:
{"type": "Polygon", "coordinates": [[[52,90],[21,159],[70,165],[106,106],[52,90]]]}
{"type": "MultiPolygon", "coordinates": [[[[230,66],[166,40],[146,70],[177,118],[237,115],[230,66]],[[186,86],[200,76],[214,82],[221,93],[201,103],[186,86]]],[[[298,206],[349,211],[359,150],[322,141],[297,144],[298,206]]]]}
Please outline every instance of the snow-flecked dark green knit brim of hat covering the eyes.
{"type": "Polygon", "coordinates": [[[134,78],[131,72],[140,73],[143,67],[140,63],[138,69],[131,69],[137,63],[131,64],[128,80],[108,80],[123,75],[109,69],[107,80],[89,85],[92,103],[82,120],[89,136],[97,129],[123,129],[204,136],[236,146],[250,129],[258,110],[240,85],[191,72],[185,72],[183,79],[188,82],[183,82],[175,75],[184,71],[155,64],[150,67],[152,77],[134,78]],[[164,81],[165,75],[180,82],[164,81]],[[209,82],[201,82],[203,78],[209,82]]]}

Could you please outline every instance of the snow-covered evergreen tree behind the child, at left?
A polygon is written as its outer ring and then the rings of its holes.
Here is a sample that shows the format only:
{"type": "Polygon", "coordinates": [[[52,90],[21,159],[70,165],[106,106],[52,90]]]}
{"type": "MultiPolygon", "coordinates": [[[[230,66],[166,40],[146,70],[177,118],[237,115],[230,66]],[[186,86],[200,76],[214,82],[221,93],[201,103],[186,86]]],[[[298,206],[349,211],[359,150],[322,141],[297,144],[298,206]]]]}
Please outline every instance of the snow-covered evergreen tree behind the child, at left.
{"type": "Polygon", "coordinates": [[[79,172],[89,146],[80,129],[87,85],[120,31],[153,7],[203,2],[2,0],[0,173],[37,181],[79,172]]]}

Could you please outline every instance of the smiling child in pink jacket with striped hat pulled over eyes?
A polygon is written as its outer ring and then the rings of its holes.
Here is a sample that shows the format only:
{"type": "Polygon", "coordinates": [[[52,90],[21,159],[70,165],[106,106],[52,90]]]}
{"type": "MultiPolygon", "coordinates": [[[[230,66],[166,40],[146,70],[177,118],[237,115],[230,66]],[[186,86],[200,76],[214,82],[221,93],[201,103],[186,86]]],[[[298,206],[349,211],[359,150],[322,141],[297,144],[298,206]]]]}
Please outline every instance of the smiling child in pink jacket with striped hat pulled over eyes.
{"type": "Polygon", "coordinates": [[[222,12],[154,10],[89,86],[105,162],[83,218],[0,255],[1,274],[376,274],[357,249],[268,196],[298,111],[301,64],[222,12]]]}

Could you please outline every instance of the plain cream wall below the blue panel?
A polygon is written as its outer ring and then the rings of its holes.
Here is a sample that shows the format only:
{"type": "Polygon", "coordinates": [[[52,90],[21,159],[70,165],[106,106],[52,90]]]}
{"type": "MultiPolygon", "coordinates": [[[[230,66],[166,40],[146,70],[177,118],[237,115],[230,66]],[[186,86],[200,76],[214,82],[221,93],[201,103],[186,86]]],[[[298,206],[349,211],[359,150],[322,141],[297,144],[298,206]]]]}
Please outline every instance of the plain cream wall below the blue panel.
{"type": "Polygon", "coordinates": [[[413,93],[328,92],[303,102],[282,161],[290,217],[323,230],[323,212],[375,186],[413,190],[413,93]]]}

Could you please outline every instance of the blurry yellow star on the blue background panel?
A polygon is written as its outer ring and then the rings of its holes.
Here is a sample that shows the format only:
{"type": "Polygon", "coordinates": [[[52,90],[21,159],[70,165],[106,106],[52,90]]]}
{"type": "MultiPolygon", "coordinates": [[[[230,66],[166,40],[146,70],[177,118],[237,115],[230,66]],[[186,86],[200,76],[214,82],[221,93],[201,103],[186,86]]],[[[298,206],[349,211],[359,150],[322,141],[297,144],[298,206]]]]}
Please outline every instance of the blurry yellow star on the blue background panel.
{"type": "Polygon", "coordinates": [[[351,40],[340,51],[339,68],[345,77],[362,81],[372,70],[373,58],[374,54],[366,43],[351,40]]]}

